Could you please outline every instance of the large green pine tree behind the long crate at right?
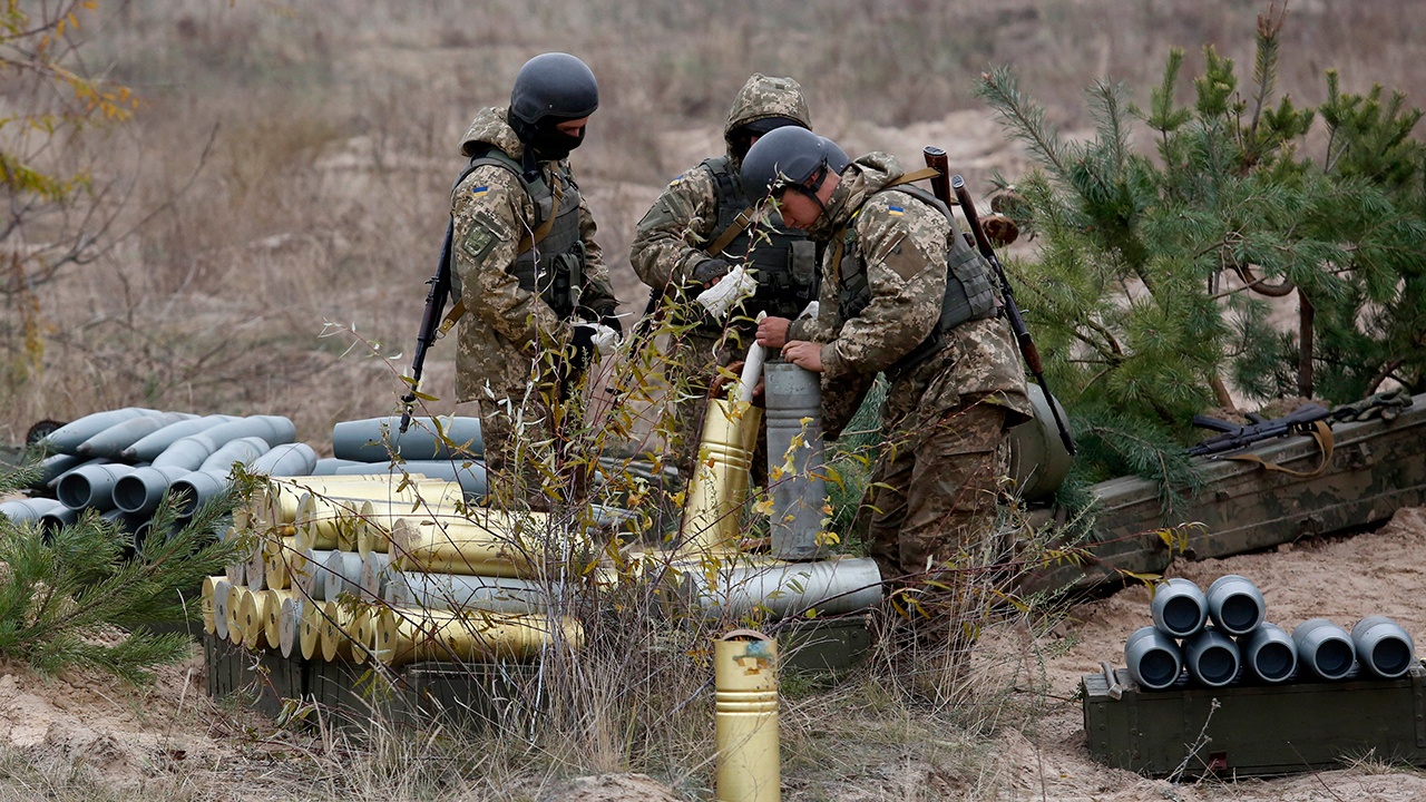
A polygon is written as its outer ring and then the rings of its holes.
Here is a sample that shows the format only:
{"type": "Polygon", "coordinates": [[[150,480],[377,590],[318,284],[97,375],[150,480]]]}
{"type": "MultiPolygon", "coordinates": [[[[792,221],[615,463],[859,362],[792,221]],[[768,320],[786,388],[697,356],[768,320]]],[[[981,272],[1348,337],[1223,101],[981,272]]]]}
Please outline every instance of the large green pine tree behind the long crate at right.
{"type": "Polygon", "coordinates": [[[1235,398],[1426,390],[1422,111],[1342,93],[1335,73],[1315,110],[1278,100],[1283,21],[1258,19],[1249,86],[1212,47],[1188,106],[1181,50],[1147,110],[1097,83],[1088,141],[1061,137],[1008,70],[977,87],[1037,163],[1011,213],[1040,247],[1008,267],[1079,430],[1081,482],[1179,481],[1191,417],[1235,398]],[[1145,128],[1152,154],[1135,150],[1145,128]]]}

